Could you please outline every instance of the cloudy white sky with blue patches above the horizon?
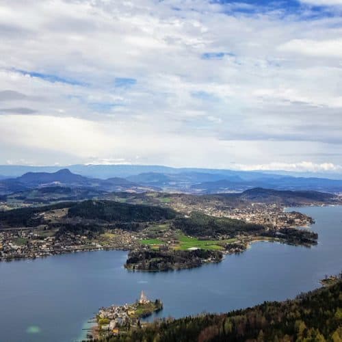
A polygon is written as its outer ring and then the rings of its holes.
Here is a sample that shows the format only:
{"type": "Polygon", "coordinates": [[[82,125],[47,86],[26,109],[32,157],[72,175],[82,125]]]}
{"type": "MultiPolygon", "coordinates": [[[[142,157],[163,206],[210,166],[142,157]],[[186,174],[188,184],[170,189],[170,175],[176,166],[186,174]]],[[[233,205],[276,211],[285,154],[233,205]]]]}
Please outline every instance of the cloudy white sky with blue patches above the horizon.
{"type": "Polygon", "coordinates": [[[0,164],[342,174],[342,0],[1,0],[0,164]]]}

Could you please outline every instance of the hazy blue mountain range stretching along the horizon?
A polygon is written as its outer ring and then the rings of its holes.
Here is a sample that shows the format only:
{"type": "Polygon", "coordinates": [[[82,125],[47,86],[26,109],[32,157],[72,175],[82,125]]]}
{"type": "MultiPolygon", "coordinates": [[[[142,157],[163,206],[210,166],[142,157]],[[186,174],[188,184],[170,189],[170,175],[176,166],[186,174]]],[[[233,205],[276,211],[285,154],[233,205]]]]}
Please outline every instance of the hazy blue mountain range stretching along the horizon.
{"type": "Polygon", "coordinates": [[[8,179],[0,179],[0,192],[23,191],[48,185],[93,187],[107,192],[163,190],[215,194],[243,192],[254,187],[342,192],[342,180],[339,179],[284,176],[253,171],[132,165],[75,165],[62,170],[55,168],[0,166],[0,173],[8,174],[8,179]],[[25,170],[29,171],[24,172],[25,170]]]}

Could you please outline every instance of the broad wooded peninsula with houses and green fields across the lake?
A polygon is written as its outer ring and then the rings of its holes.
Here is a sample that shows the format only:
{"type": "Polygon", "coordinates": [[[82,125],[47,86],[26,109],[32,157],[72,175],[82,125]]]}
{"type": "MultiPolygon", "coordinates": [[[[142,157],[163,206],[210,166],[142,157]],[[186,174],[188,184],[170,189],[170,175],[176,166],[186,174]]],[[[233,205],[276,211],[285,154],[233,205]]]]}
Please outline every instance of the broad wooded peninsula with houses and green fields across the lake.
{"type": "Polygon", "coordinates": [[[222,254],[243,252],[254,240],[317,244],[317,234],[298,229],[312,224],[312,218],[285,212],[284,205],[256,204],[254,200],[244,198],[236,203],[236,198],[224,196],[110,194],[103,200],[3,211],[0,261],[118,249],[133,251],[135,261],[127,262],[127,268],[157,271],[218,262],[222,254]],[[149,249],[160,251],[156,256],[148,252],[154,260],[146,263],[145,250],[149,249]],[[194,252],[197,249],[204,251],[194,252]]]}

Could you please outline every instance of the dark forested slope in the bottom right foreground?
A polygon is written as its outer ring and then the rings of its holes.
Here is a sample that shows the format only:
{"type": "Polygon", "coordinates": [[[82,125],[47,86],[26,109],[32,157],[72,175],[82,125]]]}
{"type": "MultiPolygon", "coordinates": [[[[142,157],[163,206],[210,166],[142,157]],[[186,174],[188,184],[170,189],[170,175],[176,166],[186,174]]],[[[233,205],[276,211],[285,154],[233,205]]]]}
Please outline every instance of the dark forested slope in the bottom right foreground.
{"type": "Polygon", "coordinates": [[[154,323],[102,341],[224,342],[342,341],[342,282],[295,300],[265,302],[222,315],[154,323]]]}

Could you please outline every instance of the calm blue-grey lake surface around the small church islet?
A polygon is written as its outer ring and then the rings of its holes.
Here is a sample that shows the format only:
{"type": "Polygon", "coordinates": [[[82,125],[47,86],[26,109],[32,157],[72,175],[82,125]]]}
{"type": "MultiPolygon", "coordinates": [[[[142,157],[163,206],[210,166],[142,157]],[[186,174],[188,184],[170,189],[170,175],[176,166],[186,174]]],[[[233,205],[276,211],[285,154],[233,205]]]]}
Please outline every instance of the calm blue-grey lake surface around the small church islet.
{"type": "MultiPolygon", "coordinates": [[[[291,208],[289,210],[294,210],[291,208]]],[[[64,254],[0,263],[1,341],[77,341],[101,306],[161,298],[160,317],[226,312],[294,298],[341,272],[342,207],[295,209],[316,220],[312,248],[257,242],[222,263],[178,272],[128,272],[127,252],[64,254]]],[[[84,335],[83,335],[84,336],[84,335]]]]}

